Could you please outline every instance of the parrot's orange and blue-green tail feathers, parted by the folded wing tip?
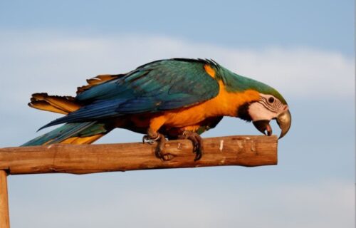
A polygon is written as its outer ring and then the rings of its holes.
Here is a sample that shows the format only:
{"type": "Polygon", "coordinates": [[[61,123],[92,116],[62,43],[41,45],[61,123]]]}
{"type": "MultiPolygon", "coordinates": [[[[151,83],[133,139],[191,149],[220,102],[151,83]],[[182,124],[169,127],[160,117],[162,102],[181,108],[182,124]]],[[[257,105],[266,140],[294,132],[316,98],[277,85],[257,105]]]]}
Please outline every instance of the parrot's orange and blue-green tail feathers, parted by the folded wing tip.
{"type": "MultiPolygon", "coordinates": [[[[81,107],[73,97],[48,95],[47,93],[33,94],[31,103],[28,103],[28,105],[32,108],[62,114],[71,113],[81,107]]],[[[111,130],[112,128],[108,125],[99,122],[66,123],[21,146],[50,145],[53,143],[90,144],[111,130]]]]}

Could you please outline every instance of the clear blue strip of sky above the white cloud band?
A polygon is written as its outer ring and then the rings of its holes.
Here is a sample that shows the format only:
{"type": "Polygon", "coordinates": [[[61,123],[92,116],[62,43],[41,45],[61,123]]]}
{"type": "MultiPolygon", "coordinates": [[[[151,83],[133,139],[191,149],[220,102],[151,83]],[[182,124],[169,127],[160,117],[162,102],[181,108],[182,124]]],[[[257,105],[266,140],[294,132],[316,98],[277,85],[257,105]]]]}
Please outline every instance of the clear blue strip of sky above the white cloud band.
{"type": "Polygon", "coordinates": [[[222,46],[353,54],[353,1],[1,1],[0,27],[169,35],[222,46]]]}

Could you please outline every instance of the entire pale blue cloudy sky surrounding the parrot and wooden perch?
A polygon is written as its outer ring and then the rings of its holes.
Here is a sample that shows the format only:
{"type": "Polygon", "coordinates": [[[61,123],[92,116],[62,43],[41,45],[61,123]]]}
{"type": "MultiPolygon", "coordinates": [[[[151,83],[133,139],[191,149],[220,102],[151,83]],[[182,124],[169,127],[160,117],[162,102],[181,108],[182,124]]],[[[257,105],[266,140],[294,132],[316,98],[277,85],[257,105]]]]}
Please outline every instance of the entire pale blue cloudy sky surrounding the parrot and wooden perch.
{"type": "MultiPolygon", "coordinates": [[[[0,1],[0,147],[58,118],[28,108],[31,93],[74,95],[86,78],[159,58],[214,58],[277,88],[293,115],[276,166],[10,176],[11,227],[354,227],[354,9],[353,1],[0,1]]],[[[258,131],[224,118],[204,137],[238,134],[258,131]]],[[[141,137],[115,130],[98,143],[141,137]]]]}

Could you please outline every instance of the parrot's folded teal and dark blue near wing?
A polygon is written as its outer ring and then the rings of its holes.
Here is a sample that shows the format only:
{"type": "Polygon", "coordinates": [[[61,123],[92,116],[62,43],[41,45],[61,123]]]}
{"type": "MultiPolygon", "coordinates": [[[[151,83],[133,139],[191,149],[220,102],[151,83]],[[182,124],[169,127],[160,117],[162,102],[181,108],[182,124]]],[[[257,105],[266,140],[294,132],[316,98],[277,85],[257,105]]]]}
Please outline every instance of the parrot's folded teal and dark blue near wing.
{"type": "Polygon", "coordinates": [[[125,76],[93,86],[76,100],[86,105],[46,128],[60,123],[93,121],[132,113],[155,113],[188,107],[216,97],[219,83],[204,70],[212,61],[173,58],[138,67],[125,76]]]}

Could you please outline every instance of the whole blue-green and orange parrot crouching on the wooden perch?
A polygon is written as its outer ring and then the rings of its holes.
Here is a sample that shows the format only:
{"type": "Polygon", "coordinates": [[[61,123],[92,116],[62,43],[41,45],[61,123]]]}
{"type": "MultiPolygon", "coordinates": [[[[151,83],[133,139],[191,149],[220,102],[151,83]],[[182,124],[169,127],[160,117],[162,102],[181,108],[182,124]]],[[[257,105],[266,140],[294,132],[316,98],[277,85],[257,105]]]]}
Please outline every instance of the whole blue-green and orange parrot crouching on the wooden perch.
{"type": "Polygon", "coordinates": [[[64,114],[39,130],[63,125],[21,146],[90,144],[124,128],[144,134],[143,143],[156,143],[155,156],[161,160],[167,140],[190,140],[197,161],[204,153],[200,135],[224,116],[252,122],[265,135],[272,135],[269,123],[276,120],[279,138],[291,125],[288,104],[277,90],[211,59],[162,59],[87,83],[75,97],[34,93],[31,108],[64,114]]]}

